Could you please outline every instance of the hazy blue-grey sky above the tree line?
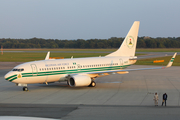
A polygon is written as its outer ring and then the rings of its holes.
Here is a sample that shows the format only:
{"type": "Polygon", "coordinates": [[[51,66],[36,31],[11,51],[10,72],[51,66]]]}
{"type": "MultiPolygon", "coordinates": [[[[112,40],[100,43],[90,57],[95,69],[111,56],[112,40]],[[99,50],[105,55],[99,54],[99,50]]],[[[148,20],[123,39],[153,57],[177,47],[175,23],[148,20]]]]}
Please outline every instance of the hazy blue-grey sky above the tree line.
{"type": "Polygon", "coordinates": [[[180,0],[0,0],[0,38],[180,37],[180,0]]]}

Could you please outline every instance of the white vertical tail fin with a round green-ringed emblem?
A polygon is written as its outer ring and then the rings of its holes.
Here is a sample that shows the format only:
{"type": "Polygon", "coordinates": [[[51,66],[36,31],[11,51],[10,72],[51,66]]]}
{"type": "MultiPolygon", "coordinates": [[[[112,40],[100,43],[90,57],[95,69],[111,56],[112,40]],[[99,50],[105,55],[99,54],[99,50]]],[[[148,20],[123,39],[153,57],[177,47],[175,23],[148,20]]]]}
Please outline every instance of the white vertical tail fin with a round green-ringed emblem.
{"type": "Polygon", "coordinates": [[[139,21],[135,21],[129,30],[126,38],[124,39],[123,43],[113,53],[110,53],[106,56],[134,56],[136,51],[136,44],[137,44],[137,37],[139,31],[139,21]]]}

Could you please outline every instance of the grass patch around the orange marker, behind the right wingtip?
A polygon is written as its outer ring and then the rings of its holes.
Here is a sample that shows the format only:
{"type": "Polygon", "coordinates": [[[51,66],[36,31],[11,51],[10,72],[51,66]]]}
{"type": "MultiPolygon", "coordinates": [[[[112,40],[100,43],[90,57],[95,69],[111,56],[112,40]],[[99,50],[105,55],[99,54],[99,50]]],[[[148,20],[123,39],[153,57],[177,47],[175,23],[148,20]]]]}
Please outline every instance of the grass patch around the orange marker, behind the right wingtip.
{"type": "MultiPolygon", "coordinates": [[[[159,57],[159,58],[151,58],[151,59],[143,59],[143,60],[138,60],[135,65],[162,65],[166,66],[168,62],[171,60],[172,56],[167,56],[167,57],[159,57]],[[164,60],[162,63],[153,63],[154,60],[164,60]]],[[[180,66],[180,55],[177,55],[174,62],[173,66],[180,66]]]]}

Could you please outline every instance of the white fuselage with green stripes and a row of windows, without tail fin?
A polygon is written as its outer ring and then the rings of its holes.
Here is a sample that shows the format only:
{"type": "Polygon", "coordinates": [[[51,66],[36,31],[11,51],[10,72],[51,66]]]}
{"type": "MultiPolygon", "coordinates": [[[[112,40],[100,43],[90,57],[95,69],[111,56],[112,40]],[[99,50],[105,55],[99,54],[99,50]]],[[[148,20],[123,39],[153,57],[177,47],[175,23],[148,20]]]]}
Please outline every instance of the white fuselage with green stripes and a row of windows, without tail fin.
{"type": "MultiPolygon", "coordinates": [[[[22,84],[65,81],[72,74],[90,74],[97,71],[113,71],[126,68],[136,60],[129,57],[90,57],[50,59],[20,64],[5,75],[5,79],[22,84]]],[[[92,75],[91,77],[96,77],[92,75]]]]}

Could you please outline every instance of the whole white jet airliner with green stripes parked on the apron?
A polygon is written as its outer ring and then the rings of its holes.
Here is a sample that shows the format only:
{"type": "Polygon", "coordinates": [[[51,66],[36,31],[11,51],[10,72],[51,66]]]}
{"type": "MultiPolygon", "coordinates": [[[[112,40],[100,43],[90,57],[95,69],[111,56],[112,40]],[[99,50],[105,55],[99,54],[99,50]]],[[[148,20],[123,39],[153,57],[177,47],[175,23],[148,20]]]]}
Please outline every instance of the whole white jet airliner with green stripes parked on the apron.
{"type": "Polygon", "coordinates": [[[166,67],[124,69],[137,60],[135,51],[139,24],[139,21],[135,21],[120,48],[104,57],[49,59],[50,52],[48,52],[45,60],[20,64],[4,77],[18,86],[23,86],[23,91],[28,90],[27,84],[46,83],[48,85],[48,83],[57,81],[67,81],[71,87],[94,87],[96,77],[114,73],[126,74],[135,70],[170,67],[176,53],[166,67]]]}

